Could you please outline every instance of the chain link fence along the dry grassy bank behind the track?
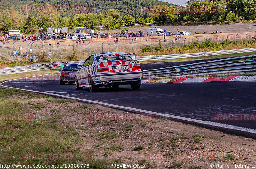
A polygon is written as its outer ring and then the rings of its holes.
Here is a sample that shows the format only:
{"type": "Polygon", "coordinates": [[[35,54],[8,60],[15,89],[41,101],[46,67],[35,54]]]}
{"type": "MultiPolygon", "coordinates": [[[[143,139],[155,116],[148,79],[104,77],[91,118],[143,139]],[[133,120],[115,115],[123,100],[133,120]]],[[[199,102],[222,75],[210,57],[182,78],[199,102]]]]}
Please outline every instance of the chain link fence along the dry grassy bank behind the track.
{"type": "Polygon", "coordinates": [[[7,43],[5,46],[11,47],[11,49],[0,48],[1,60],[8,61],[14,60],[13,51],[16,50],[18,55],[15,55],[15,60],[29,60],[26,55],[22,55],[30,51],[32,56],[38,56],[39,60],[53,60],[53,61],[66,61],[74,59],[85,59],[88,55],[101,52],[126,52],[126,53],[139,53],[145,45],[151,48],[161,46],[162,49],[169,48],[181,48],[185,45],[194,44],[195,40],[204,41],[206,39],[212,39],[216,43],[221,43],[224,40],[242,41],[244,39],[251,39],[255,36],[254,33],[244,33],[237,35],[221,35],[216,34],[214,36],[186,36],[176,38],[175,36],[164,37],[137,37],[137,41],[132,38],[123,38],[115,43],[114,38],[101,38],[99,39],[86,39],[85,43],[81,40],[81,43],[76,43],[76,40],[60,40],[60,44],[57,45],[57,41],[47,40],[44,41],[44,47],[42,41],[33,41],[29,45],[26,43],[13,44],[13,41],[7,43]]]}

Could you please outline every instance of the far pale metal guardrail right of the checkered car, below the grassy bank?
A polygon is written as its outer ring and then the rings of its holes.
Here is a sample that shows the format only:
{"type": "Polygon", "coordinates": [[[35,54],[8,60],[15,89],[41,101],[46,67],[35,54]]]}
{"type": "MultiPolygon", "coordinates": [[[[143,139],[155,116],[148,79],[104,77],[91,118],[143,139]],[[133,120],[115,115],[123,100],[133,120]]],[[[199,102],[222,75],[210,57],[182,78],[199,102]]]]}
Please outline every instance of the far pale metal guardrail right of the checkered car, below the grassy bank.
{"type": "Polygon", "coordinates": [[[162,60],[162,59],[179,59],[179,58],[188,58],[188,57],[202,57],[202,56],[223,55],[223,54],[233,54],[233,53],[243,53],[243,52],[256,52],[256,48],[231,49],[231,50],[171,54],[171,55],[138,56],[138,60],[147,61],[147,60],[162,60]]]}

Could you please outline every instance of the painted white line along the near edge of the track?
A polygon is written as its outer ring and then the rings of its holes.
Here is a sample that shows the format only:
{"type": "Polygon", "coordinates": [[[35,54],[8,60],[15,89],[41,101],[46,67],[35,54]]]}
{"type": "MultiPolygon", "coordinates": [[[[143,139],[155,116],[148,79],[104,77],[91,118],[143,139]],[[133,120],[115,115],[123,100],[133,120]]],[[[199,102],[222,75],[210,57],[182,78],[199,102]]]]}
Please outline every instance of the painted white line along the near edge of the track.
{"type": "MultiPolygon", "coordinates": [[[[15,79],[15,80],[17,80],[17,79],[15,79]]],[[[13,80],[8,80],[8,81],[13,81],[13,80]]],[[[5,82],[8,82],[8,81],[5,81],[5,82]]],[[[16,87],[4,86],[3,83],[5,83],[5,82],[2,82],[0,84],[0,86],[13,88],[13,89],[20,89],[20,88],[16,88],[16,87]]],[[[232,125],[222,124],[222,123],[217,123],[217,122],[212,122],[212,121],[202,121],[202,120],[191,119],[191,118],[187,118],[187,117],[180,117],[180,116],[169,115],[169,114],[162,114],[162,113],[152,112],[152,111],[148,111],[148,110],[142,110],[142,109],[137,109],[137,108],[132,108],[132,107],[119,106],[119,105],[104,103],[104,102],[100,102],[100,101],[80,99],[80,98],[75,98],[75,97],[70,97],[70,96],[63,96],[63,95],[60,95],[60,94],[54,94],[54,93],[49,93],[49,92],[39,92],[39,91],[27,90],[27,89],[20,89],[20,90],[29,91],[29,92],[36,92],[36,93],[41,93],[41,94],[51,95],[51,96],[57,96],[57,97],[65,98],[65,99],[74,99],[74,100],[78,100],[78,101],[81,101],[81,102],[86,102],[86,103],[91,103],[91,104],[99,104],[99,105],[102,105],[102,106],[112,107],[112,108],[126,110],[126,111],[132,111],[132,112],[136,112],[136,113],[155,114],[155,115],[158,115],[158,116],[162,116],[166,119],[172,118],[172,119],[176,119],[176,120],[180,120],[180,121],[189,121],[189,122],[194,122],[196,124],[201,124],[201,125],[207,126],[207,127],[215,127],[215,128],[217,127],[217,128],[222,128],[222,129],[231,129],[231,130],[235,130],[235,131],[256,134],[255,129],[249,129],[249,128],[245,128],[245,127],[232,126],[232,125]]]]}

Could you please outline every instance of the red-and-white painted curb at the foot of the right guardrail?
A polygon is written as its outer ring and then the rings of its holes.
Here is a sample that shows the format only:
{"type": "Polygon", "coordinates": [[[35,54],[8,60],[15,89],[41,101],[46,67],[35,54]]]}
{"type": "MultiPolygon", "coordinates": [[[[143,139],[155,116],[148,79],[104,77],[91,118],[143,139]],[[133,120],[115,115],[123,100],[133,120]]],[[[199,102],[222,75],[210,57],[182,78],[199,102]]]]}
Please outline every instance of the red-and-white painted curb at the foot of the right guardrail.
{"type": "Polygon", "coordinates": [[[256,81],[256,76],[191,77],[178,79],[141,80],[141,83],[189,83],[189,82],[240,82],[256,81]]]}

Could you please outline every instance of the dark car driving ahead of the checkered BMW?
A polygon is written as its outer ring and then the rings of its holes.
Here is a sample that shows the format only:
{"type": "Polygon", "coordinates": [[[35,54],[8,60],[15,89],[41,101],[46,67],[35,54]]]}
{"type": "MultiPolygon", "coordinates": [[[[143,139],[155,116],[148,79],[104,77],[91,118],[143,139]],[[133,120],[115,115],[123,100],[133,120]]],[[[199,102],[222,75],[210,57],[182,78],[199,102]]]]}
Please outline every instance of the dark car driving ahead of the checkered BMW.
{"type": "Polygon", "coordinates": [[[81,65],[67,64],[64,65],[60,72],[60,85],[65,83],[75,83],[76,72],[80,69],[81,65]]]}

